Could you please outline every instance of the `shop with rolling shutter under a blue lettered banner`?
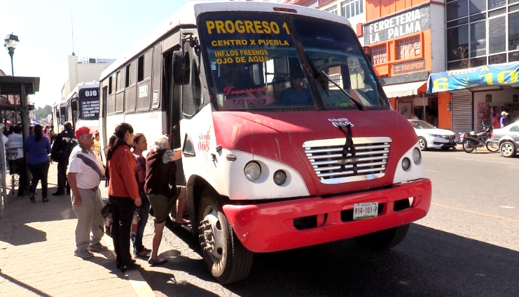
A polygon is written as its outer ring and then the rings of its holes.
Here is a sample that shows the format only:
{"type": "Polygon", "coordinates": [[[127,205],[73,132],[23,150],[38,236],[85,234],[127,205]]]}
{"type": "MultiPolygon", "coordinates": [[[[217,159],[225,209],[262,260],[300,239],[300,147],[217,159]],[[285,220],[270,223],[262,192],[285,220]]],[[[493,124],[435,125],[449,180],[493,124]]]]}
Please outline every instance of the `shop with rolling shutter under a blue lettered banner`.
{"type": "Polygon", "coordinates": [[[427,94],[450,96],[454,132],[480,131],[501,112],[519,120],[519,62],[493,64],[433,73],[427,94]]]}

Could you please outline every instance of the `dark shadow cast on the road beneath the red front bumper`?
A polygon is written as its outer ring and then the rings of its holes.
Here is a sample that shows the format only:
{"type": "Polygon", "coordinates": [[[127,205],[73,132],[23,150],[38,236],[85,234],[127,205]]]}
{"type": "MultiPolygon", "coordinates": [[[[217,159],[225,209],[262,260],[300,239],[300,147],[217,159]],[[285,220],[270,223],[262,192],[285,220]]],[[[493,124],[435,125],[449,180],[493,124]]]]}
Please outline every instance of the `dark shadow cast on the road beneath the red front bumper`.
{"type": "Polygon", "coordinates": [[[384,252],[343,240],[254,254],[249,277],[225,287],[237,296],[519,296],[517,275],[519,252],[412,224],[384,252]]]}

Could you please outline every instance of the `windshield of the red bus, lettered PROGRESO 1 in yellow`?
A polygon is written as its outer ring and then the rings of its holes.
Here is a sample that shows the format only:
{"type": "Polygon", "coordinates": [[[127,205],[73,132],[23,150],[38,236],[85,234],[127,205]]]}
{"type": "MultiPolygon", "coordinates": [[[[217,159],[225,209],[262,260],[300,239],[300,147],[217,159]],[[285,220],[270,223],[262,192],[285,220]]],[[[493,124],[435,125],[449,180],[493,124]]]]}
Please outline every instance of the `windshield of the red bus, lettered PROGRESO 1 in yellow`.
{"type": "Polygon", "coordinates": [[[217,110],[389,109],[350,27],[271,13],[200,15],[217,110]]]}

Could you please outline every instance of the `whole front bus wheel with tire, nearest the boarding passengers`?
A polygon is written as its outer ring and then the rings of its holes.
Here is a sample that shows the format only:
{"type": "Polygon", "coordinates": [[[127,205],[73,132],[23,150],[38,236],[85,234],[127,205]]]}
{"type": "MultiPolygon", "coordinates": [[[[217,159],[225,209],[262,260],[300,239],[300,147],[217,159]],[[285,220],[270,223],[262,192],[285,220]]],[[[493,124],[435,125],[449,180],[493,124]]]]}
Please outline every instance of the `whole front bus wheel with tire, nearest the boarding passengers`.
{"type": "Polygon", "coordinates": [[[198,242],[209,273],[220,284],[238,282],[247,277],[253,253],[238,240],[222,211],[219,194],[212,189],[202,192],[198,222],[198,242]]]}

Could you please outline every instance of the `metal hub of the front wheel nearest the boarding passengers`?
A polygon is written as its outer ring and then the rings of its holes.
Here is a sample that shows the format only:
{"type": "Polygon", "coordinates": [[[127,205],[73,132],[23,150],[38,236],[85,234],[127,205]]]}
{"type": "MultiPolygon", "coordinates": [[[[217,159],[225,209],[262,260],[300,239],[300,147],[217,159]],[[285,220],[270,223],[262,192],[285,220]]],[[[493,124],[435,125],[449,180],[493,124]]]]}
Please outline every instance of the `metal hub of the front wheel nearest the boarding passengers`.
{"type": "Polygon", "coordinates": [[[199,237],[203,238],[200,245],[216,262],[221,260],[223,252],[223,231],[216,210],[210,208],[207,212],[204,219],[200,222],[200,227],[198,227],[201,231],[199,237]]]}

